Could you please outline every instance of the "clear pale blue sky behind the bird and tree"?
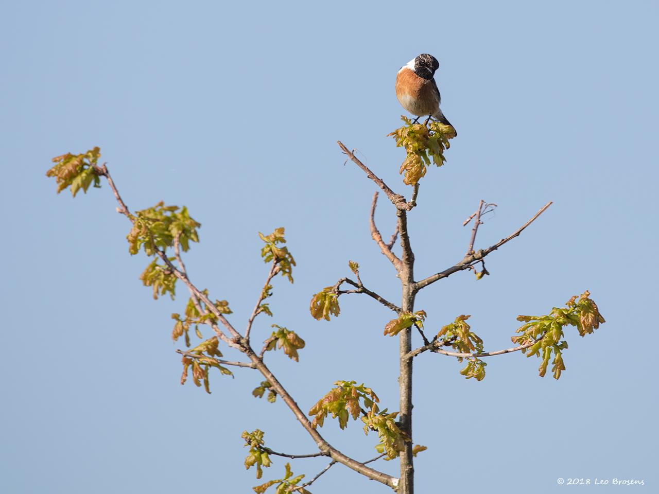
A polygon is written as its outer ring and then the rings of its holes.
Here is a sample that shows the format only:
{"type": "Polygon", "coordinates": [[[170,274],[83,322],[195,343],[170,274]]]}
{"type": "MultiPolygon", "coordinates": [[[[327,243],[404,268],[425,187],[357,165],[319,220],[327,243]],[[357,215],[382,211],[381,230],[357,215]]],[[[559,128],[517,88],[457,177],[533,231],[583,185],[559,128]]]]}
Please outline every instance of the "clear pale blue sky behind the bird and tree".
{"type": "MultiPolygon", "coordinates": [[[[457,273],[421,292],[428,332],[471,314],[486,349],[507,348],[518,314],[586,289],[607,322],[585,339],[567,332],[558,382],[519,352],[488,360],[480,383],[455,359],[418,357],[415,442],[428,446],[418,491],[568,489],[558,478],[656,489],[657,337],[646,319],[656,306],[657,14],[650,1],[4,3],[0,490],[248,492],[260,481],[243,468],[244,429],[263,429],[277,451],[314,451],[281,402],[250,395],[254,371],[212,376],[212,395],[179,385],[169,314],[185,290],[154,302],[142,287],[146,258],[129,256],[107,186],[55,194],[44,173],[67,151],[100,146],[132,209],[189,207],[203,226],[188,271],[229,300],[239,327],[267,273],[256,233],[285,226],[295,284],[277,280],[275,317],[258,319],[254,339],[277,323],[307,346],[299,364],[281,352],[268,364],[304,410],[337,379],[363,381],[397,410],[398,345],[382,336],[391,314],[345,297],[326,323],[308,302],[349,274],[349,260],[367,287],[399,297],[368,233],[374,185],[335,142],[409,194],[403,151],[386,134],[403,113],[395,73],[419,53],[440,61],[442,109],[459,137],[410,215],[417,278],[461,259],[461,225],[480,199],[499,207],[478,247],[554,201],[488,257],[489,277],[457,273]]],[[[388,234],[393,208],[381,201],[377,219],[388,234]]],[[[359,423],[330,421],[322,433],[351,456],[375,456],[359,423]]],[[[310,478],[324,465],[293,469],[310,478]]],[[[339,466],[311,490],[339,486],[386,492],[339,466]]]]}

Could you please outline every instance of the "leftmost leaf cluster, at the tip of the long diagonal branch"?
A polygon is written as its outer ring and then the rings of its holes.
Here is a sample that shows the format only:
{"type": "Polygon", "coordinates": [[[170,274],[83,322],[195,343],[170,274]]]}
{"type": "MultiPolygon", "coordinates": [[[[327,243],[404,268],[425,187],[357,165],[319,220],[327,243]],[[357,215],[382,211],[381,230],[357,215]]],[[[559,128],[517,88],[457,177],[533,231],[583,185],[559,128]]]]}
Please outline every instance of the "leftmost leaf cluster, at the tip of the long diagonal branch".
{"type": "Polygon", "coordinates": [[[96,188],[101,186],[100,171],[98,170],[100,156],[101,149],[98,146],[82,154],[66,153],[56,156],[53,158],[55,165],[45,175],[46,177],[55,177],[57,194],[67,187],[71,187],[73,197],[80,189],[86,194],[92,183],[96,188]]]}

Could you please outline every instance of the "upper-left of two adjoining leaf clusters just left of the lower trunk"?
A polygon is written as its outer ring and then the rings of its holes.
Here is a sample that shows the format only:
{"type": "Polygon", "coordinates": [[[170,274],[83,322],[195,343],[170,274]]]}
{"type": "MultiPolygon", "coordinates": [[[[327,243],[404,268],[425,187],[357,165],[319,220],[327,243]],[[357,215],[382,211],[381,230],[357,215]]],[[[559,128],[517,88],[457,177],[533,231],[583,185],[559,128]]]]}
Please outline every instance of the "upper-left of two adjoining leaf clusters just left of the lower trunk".
{"type": "Polygon", "coordinates": [[[366,408],[372,408],[376,403],[380,402],[380,398],[373,392],[372,389],[364,387],[364,384],[355,386],[357,381],[336,381],[335,388],[331,389],[327,395],[320,398],[318,402],[309,410],[309,415],[315,415],[311,426],[323,426],[325,418],[331,414],[332,418],[339,419],[339,427],[345,429],[348,425],[348,418],[353,417],[357,420],[359,414],[362,412],[362,407],[359,400],[363,400],[366,408]]]}

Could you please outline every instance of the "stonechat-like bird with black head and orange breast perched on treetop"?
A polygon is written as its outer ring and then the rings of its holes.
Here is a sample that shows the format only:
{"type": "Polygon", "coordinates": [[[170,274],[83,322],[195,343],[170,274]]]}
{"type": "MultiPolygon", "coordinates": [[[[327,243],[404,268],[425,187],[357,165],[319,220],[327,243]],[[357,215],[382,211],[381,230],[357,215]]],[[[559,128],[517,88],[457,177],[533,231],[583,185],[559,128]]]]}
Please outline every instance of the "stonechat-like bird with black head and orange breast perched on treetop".
{"type": "MultiPolygon", "coordinates": [[[[412,115],[416,115],[415,122],[419,117],[428,115],[428,120],[433,117],[445,125],[451,125],[440,110],[442,96],[440,96],[440,90],[433,78],[439,67],[440,63],[435,57],[428,53],[421,53],[398,71],[396,96],[403,108],[412,115]]],[[[455,135],[457,136],[457,132],[455,135]]]]}

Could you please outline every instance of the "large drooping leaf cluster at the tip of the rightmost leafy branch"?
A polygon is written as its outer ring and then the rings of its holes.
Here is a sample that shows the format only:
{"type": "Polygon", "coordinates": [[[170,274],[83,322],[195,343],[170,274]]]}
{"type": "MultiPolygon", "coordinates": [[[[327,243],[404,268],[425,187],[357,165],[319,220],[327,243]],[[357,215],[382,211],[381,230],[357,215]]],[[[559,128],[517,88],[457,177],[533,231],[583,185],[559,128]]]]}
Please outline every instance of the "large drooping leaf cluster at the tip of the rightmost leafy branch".
{"type": "Polygon", "coordinates": [[[595,329],[604,323],[604,317],[600,314],[597,304],[589,298],[590,292],[586,290],[580,296],[570,298],[563,308],[552,308],[548,316],[518,316],[517,320],[525,324],[517,329],[519,336],[511,337],[511,341],[517,344],[526,344],[534,341],[535,343],[524,348],[522,352],[527,357],[535,355],[540,357],[542,352],[542,362],[538,371],[540,377],[544,377],[549,362],[554,354],[552,361],[552,372],[554,379],[561,377],[561,372],[565,370],[562,351],[567,348],[567,341],[561,339],[564,337],[563,328],[565,326],[575,326],[579,335],[591,334],[595,329]],[[577,300],[579,298],[579,300],[577,300]]]}

